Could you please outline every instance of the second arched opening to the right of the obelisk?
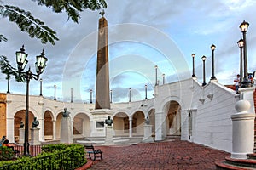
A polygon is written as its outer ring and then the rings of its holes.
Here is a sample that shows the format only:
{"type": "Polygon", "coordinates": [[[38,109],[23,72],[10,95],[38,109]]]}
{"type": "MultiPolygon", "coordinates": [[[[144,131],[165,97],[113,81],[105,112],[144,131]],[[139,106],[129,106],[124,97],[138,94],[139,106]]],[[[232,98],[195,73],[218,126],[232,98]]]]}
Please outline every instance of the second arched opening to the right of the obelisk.
{"type": "Polygon", "coordinates": [[[145,116],[143,111],[136,111],[132,116],[132,135],[144,135],[145,116]]]}

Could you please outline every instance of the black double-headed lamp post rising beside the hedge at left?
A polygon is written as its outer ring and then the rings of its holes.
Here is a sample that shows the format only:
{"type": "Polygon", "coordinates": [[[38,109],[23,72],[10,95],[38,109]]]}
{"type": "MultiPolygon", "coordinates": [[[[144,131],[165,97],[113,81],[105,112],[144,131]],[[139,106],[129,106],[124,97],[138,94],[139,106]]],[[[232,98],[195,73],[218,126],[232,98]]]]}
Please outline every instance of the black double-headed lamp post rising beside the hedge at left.
{"type": "Polygon", "coordinates": [[[37,74],[32,73],[30,70],[30,67],[28,71],[24,71],[27,60],[26,60],[27,54],[25,53],[24,45],[22,48],[20,48],[20,51],[16,52],[16,62],[18,65],[18,71],[20,77],[24,77],[26,80],[26,113],[25,113],[25,139],[24,139],[24,156],[29,156],[29,143],[28,143],[28,113],[29,113],[29,82],[32,79],[38,80],[40,74],[43,73],[44,68],[46,66],[46,61],[48,60],[44,56],[44,49],[43,52],[37,56],[37,61],[35,63],[36,65],[36,71],[37,74]]]}

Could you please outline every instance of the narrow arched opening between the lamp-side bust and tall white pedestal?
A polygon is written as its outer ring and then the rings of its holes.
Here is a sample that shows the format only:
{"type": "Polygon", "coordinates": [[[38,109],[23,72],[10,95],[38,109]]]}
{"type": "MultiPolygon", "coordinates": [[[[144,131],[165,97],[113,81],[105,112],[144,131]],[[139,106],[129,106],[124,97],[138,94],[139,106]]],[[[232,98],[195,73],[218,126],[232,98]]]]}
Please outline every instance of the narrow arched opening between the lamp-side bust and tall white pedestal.
{"type": "Polygon", "coordinates": [[[53,139],[53,116],[50,111],[44,112],[44,139],[53,139]]]}

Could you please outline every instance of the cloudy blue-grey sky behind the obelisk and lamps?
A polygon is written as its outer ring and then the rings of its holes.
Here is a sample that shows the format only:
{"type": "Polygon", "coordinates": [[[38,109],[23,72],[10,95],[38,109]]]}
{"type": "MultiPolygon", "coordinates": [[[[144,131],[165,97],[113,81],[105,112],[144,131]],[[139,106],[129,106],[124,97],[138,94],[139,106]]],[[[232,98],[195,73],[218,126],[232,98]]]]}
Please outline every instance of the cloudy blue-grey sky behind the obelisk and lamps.
{"type": "MultiPolygon", "coordinates": [[[[31,11],[57,31],[60,41],[41,44],[21,32],[8,19],[0,18],[0,34],[8,42],[0,43],[0,54],[15,64],[15,52],[25,45],[29,63],[34,71],[35,56],[44,48],[49,59],[42,74],[43,95],[53,99],[54,85],[59,100],[90,101],[90,89],[95,94],[96,48],[99,11],[84,11],[79,24],[67,21],[67,14],[54,14],[50,8],[39,7],[33,1],[2,1],[31,11]]],[[[113,102],[144,99],[144,85],[148,85],[148,98],[153,97],[155,68],[162,83],[177,82],[191,77],[192,58],[195,53],[195,75],[202,77],[201,56],[207,56],[207,82],[212,75],[212,43],[215,50],[215,76],[218,82],[233,84],[239,72],[240,50],[237,41],[242,37],[239,25],[247,20],[248,71],[256,70],[255,0],[107,0],[104,17],[108,20],[110,88],[113,102]]],[[[6,92],[7,81],[0,74],[0,92],[6,92]]],[[[10,92],[26,94],[26,84],[10,81],[10,92]]],[[[30,94],[39,94],[39,81],[32,80],[30,94]]]]}

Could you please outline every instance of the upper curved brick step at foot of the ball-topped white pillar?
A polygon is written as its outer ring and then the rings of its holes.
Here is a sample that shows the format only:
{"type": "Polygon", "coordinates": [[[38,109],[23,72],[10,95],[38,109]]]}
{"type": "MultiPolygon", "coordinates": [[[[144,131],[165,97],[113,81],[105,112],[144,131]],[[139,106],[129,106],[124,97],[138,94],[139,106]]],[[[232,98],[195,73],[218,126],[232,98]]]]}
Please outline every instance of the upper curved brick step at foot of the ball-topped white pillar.
{"type": "Polygon", "coordinates": [[[256,160],[253,159],[233,159],[230,157],[225,158],[226,163],[230,165],[235,165],[235,166],[241,166],[241,167],[253,167],[254,169],[256,168],[256,160]]]}

